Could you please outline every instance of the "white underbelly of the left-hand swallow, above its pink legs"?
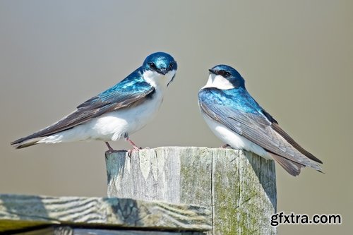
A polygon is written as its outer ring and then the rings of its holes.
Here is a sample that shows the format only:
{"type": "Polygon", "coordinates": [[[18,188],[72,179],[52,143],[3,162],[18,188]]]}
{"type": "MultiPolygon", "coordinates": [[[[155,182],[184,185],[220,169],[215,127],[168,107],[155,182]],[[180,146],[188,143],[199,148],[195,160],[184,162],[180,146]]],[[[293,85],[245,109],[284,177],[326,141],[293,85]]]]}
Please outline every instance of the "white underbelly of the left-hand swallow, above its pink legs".
{"type": "Polygon", "coordinates": [[[67,131],[50,135],[39,143],[64,143],[83,140],[119,140],[143,128],[157,114],[162,94],[155,93],[145,102],[103,114],[67,131]]]}

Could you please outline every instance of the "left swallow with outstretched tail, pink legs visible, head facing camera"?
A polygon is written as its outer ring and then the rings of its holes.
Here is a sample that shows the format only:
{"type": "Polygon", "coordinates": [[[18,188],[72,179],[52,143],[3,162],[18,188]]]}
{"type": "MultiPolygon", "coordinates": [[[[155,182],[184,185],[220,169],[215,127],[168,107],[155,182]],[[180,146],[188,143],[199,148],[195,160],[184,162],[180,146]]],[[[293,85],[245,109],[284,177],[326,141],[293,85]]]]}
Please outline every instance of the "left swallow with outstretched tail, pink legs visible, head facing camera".
{"type": "Polygon", "coordinates": [[[143,65],[120,83],[78,105],[56,123],[11,143],[16,148],[40,143],[125,138],[151,121],[162,104],[165,90],[177,71],[177,61],[164,52],[150,54],[143,65]]]}

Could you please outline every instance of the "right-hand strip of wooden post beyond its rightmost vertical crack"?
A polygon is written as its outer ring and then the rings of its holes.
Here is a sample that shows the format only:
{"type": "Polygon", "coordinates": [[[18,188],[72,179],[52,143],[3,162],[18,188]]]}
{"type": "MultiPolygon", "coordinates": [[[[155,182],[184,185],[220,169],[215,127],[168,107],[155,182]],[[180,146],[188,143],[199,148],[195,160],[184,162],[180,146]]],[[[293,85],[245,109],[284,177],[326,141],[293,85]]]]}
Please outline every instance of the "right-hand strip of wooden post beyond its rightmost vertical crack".
{"type": "Polygon", "coordinates": [[[252,152],[239,157],[239,234],[276,234],[275,164],[252,152]]]}

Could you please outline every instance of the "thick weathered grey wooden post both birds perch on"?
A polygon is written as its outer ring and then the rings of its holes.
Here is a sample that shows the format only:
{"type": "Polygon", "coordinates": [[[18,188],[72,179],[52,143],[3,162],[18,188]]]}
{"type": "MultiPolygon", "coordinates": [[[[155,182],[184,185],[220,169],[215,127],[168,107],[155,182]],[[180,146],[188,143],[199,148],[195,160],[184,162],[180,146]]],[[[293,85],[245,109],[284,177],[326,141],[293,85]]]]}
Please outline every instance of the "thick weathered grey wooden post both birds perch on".
{"type": "Polygon", "coordinates": [[[251,152],[158,147],[106,154],[108,197],[202,205],[208,234],[276,234],[275,163],[251,152]]]}

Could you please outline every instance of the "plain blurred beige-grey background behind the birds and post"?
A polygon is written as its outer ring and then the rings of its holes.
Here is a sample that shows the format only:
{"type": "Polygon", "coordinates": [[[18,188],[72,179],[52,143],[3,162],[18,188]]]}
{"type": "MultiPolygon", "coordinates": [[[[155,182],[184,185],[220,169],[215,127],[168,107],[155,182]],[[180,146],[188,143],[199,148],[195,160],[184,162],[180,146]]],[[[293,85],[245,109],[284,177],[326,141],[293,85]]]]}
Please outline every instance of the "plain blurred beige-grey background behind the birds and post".
{"type": "MultiPolygon", "coordinates": [[[[104,196],[104,143],[9,143],[73,111],[169,52],[179,71],[140,146],[222,145],[198,111],[208,68],[229,64],[325,174],[277,166],[278,211],[341,214],[342,225],[282,225],[280,234],[352,230],[352,1],[0,1],[0,193],[104,196]]],[[[129,147],[124,141],[116,149],[129,147]]]]}

